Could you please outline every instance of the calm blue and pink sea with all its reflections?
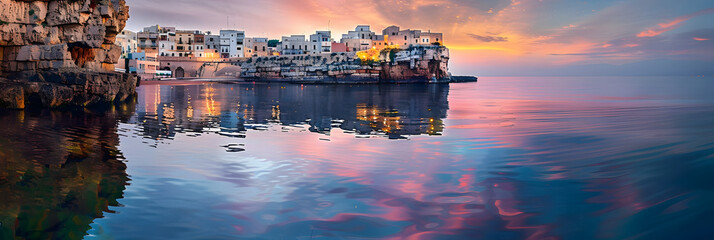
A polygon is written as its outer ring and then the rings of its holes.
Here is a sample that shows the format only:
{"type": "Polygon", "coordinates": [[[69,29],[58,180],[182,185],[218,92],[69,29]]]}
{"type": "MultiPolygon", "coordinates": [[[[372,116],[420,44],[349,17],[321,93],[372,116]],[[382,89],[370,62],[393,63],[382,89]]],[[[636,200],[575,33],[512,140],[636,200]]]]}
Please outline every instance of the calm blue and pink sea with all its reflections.
{"type": "Polygon", "coordinates": [[[708,239],[714,79],[145,85],[0,112],[0,239],[708,239]]]}

